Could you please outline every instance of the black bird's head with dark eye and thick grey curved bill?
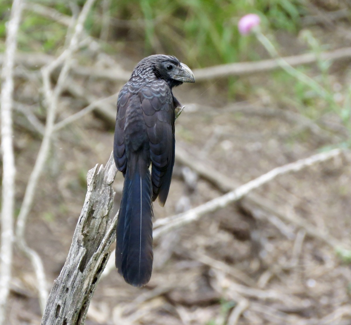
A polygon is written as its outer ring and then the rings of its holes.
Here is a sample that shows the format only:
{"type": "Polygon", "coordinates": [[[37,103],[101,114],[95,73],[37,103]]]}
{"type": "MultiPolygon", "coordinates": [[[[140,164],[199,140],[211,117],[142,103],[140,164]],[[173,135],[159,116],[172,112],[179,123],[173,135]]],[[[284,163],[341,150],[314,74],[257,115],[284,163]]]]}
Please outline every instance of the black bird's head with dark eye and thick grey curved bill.
{"type": "Polygon", "coordinates": [[[149,73],[152,72],[157,78],[164,79],[171,88],[181,85],[183,82],[195,82],[194,74],[188,66],[172,55],[150,55],[150,57],[141,60],[135,70],[138,67],[144,67],[144,72],[145,67],[147,67],[149,73]]]}

